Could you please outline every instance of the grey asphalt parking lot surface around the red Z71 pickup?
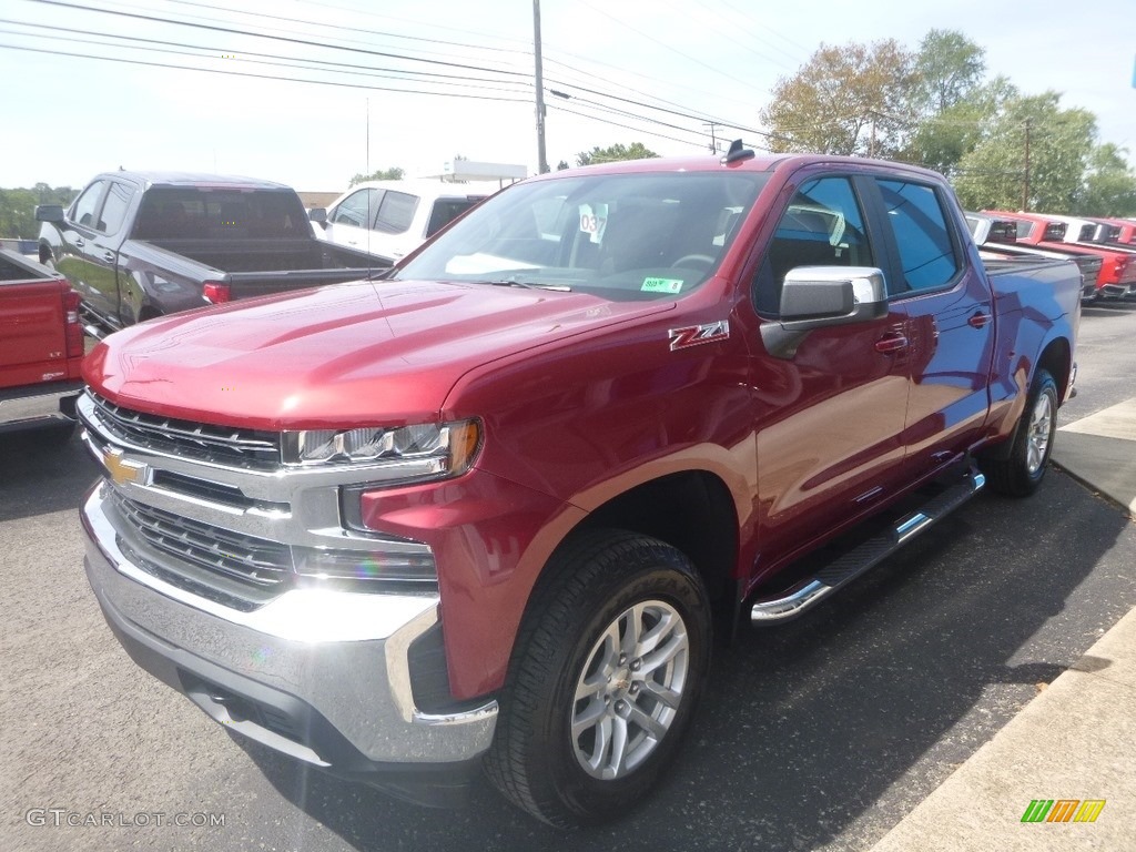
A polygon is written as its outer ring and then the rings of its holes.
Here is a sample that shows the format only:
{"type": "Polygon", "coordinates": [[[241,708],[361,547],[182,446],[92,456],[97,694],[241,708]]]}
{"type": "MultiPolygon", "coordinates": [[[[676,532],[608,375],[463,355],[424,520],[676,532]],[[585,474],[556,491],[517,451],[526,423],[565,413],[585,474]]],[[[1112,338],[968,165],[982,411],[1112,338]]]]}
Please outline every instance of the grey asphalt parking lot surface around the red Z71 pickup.
{"type": "MultiPolygon", "coordinates": [[[[1061,421],[1133,396],[1136,302],[1088,308],[1061,421]]],[[[1059,436],[1060,440],[1060,436],[1059,436]]],[[[1136,525],[1061,470],[979,495],[812,613],[717,657],[687,747],[619,822],[490,788],[433,811],[239,742],[137,669],[82,569],[95,467],[0,440],[2,850],[867,850],[1136,607],[1136,525]]]]}

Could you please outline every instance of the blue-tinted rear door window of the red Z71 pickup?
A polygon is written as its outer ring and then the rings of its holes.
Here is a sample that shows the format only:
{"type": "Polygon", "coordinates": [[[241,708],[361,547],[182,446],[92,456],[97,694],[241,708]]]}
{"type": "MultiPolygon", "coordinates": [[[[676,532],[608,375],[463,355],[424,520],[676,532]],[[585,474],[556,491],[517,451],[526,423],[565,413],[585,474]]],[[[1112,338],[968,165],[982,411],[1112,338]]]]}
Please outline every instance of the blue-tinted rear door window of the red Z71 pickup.
{"type": "Polygon", "coordinates": [[[959,272],[959,261],[934,187],[905,181],[878,183],[907,286],[933,290],[949,284],[959,272]]]}

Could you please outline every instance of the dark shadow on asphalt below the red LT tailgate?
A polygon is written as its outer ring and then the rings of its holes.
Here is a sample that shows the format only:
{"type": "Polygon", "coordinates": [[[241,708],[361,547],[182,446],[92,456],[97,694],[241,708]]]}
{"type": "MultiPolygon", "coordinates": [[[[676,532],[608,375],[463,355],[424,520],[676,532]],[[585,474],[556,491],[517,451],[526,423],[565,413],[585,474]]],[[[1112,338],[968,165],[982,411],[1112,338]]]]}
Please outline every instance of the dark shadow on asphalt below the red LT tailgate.
{"type": "Polygon", "coordinates": [[[0,521],[77,509],[98,475],[77,433],[0,434],[0,521]]]}

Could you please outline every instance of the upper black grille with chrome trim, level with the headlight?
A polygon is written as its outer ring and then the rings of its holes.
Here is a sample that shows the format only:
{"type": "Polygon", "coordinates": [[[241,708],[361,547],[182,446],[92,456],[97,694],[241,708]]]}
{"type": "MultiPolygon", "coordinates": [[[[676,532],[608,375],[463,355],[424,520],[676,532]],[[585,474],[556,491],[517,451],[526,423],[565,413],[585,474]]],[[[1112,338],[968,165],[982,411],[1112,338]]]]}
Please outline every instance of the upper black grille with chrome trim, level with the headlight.
{"type": "MultiPolygon", "coordinates": [[[[134,446],[220,465],[273,470],[281,467],[279,433],[215,426],[148,415],[116,406],[92,391],[95,416],[111,435],[134,446]]],[[[87,424],[94,426],[94,424],[87,424]]]]}

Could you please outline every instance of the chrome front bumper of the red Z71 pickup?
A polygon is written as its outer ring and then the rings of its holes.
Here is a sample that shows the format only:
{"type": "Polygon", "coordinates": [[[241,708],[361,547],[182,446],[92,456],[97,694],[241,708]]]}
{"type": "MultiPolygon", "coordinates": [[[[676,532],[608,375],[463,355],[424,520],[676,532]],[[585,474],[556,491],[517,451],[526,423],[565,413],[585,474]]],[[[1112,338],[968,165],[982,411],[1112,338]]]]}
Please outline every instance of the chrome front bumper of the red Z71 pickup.
{"type": "Polygon", "coordinates": [[[496,702],[421,712],[411,644],[437,598],[294,590],[241,612],[131,562],[103,502],[82,509],[86,571],[131,657],[215,720],[333,775],[416,801],[462,786],[493,738],[496,702]]]}

